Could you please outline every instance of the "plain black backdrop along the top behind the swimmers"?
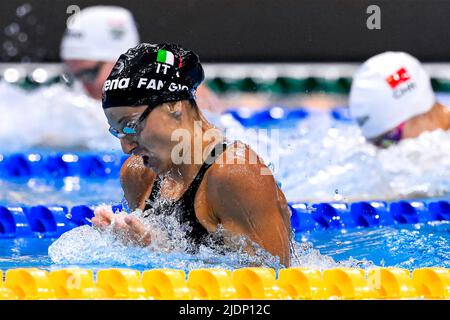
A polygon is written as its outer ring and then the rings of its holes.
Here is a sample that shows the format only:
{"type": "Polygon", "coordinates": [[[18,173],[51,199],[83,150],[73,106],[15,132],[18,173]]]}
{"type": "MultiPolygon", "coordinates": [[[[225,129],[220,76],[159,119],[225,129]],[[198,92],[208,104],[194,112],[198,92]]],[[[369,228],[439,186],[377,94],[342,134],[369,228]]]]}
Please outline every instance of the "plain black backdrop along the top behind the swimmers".
{"type": "Polygon", "coordinates": [[[386,50],[450,60],[448,0],[1,0],[0,61],[59,61],[73,4],[126,7],[141,41],[179,43],[205,62],[356,62],[386,50]],[[366,28],[371,4],[381,30],[366,28]]]}

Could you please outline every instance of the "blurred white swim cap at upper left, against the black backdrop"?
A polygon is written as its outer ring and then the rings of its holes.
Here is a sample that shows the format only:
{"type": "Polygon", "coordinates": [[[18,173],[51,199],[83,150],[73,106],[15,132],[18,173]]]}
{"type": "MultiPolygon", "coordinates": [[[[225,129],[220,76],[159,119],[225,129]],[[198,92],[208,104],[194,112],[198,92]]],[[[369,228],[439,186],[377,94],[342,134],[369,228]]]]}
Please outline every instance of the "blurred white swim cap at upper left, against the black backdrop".
{"type": "Polygon", "coordinates": [[[73,16],[61,42],[64,60],[116,61],[139,43],[133,16],[116,6],[88,7],[73,16]]]}

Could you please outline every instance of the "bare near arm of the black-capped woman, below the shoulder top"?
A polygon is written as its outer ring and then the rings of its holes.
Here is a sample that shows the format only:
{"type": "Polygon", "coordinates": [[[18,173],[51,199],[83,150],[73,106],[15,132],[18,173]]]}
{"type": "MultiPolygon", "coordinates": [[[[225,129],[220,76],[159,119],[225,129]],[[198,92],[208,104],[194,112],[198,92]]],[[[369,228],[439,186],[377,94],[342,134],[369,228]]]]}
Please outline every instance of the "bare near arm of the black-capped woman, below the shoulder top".
{"type": "MultiPolygon", "coordinates": [[[[214,217],[232,234],[247,235],[289,265],[290,217],[286,199],[264,165],[211,170],[207,197],[214,217]]],[[[248,248],[252,253],[252,248],[248,248]]]]}

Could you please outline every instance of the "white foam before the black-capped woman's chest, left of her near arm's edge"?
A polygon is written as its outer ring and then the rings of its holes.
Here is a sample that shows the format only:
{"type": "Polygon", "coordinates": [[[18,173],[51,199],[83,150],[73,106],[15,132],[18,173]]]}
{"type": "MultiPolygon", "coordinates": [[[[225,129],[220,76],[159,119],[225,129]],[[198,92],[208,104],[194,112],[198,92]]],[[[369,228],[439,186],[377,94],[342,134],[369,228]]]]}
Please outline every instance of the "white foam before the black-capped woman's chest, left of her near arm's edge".
{"type": "MultiPolygon", "coordinates": [[[[138,218],[149,230],[152,241],[147,247],[136,246],[126,241],[128,239],[126,236],[113,231],[113,223],[104,230],[82,226],[63,234],[49,247],[49,256],[55,263],[144,265],[152,268],[172,267],[187,270],[211,265],[231,268],[252,263],[281,266],[277,259],[260,248],[256,248],[255,256],[245,254],[243,247],[247,242],[241,237],[232,239],[232,245],[224,255],[224,247],[220,247],[214,241],[223,233],[220,228],[210,236],[207,245],[201,246],[195,254],[189,253],[192,252],[190,249],[193,249],[193,244],[186,238],[189,226],[180,224],[175,213],[167,215],[145,213],[150,215],[144,218],[141,210],[130,214],[138,218]]],[[[124,214],[119,213],[117,218],[124,214]]]]}

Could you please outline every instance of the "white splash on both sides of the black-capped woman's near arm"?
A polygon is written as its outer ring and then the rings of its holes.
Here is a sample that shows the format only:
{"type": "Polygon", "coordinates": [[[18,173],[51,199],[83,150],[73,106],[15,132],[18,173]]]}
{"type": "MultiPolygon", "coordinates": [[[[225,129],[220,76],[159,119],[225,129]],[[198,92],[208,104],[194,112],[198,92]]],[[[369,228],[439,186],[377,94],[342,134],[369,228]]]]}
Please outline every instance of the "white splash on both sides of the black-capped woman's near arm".
{"type": "MultiPolygon", "coordinates": [[[[120,213],[123,214],[123,213],[120,213]]],[[[193,244],[186,238],[189,227],[180,224],[174,215],[151,215],[142,217],[137,210],[131,213],[151,232],[152,243],[147,247],[124,244],[112,228],[99,231],[90,226],[75,228],[63,234],[48,249],[55,264],[63,265],[103,265],[103,266],[145,266],[146,268],[178,268],[191,270],[201,267],[240,268],[245,266],[266,266],[283,268],[279,258],[271,255],[257,244],[253,246],[253,255],[245,252],[249,245],[245,237],[229,237],[227,245],[214,240],[223,236],[225,231],[211,234],[206,245],[201,245],[195,253],[188,253],[193,244]]],[[[314,250],[309,243],[292,241],[292,266],[328,269],[338,266],[370,265],[364,261],[348,260],[335,262],[314,250]]]]}

